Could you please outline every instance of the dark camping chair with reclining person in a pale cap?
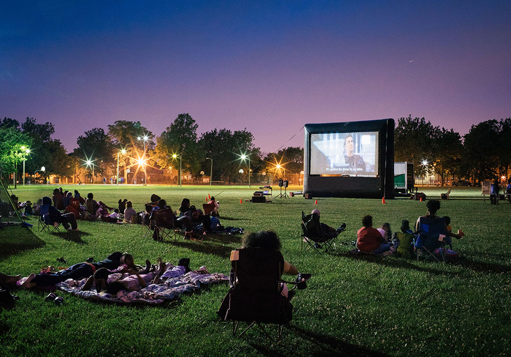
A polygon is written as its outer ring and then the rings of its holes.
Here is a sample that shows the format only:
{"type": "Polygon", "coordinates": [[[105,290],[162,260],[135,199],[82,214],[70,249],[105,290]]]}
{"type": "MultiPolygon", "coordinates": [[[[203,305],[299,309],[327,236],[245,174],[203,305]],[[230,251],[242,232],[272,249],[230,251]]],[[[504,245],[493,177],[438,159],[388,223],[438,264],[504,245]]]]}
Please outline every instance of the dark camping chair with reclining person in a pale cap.
{"type": "Polygon", "coordinates": [[[313,248],[320,251],[324,248],[325,253],[329,250],[335,250],[335,238],[344,229],[326,234],[321,228],[319,216],[316,213],[305,215],[304,211],[301,211],[301,250],[307,251],[313,248]],[[304,243],[307,243],[305,249],[304,243]]]}

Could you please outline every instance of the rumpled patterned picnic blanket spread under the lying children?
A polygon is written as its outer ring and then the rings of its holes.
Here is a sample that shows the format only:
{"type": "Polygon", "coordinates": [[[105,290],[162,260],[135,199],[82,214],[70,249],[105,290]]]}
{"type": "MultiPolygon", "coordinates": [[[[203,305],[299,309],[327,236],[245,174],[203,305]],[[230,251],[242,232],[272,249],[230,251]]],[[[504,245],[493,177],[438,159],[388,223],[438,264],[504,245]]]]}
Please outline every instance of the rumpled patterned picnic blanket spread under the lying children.
{"type": "MultiPolygon", "coordinates": [[[[168,269],[172,267],[171,264],[167,264],[168,269]]],[[[90,291],[81,290],[81,287],[87,281],[86,278],[81,280],[67,279],[57,284],[57,289],[92,301],[111,302],[123,305],[158,305],[165,301],[172,300],[182,293],[198,290],[204,285],[228,280],[229,277],[224,274],[210,273],[207,271],[206,267],[201,267],[198,270],[190,271],[181,276],[169,278],[159,284],[151,284],[139,291],[120,291],[115,297],[109,294],[100,295],[94,289],[90,291]]]]}

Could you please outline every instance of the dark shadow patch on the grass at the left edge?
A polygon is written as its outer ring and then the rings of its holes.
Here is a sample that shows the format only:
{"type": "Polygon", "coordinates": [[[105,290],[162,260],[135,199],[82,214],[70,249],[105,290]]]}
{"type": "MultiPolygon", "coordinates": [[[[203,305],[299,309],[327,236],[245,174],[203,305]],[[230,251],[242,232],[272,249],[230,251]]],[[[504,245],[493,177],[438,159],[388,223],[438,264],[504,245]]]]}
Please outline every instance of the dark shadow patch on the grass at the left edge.
{"type": "Polygon", "coordinates": [[[39,239],[30,228],[19,225],[2,228],[0,231],[0,260],[4,260],[21,251],[39,248],[46,243],[39,239]]]}

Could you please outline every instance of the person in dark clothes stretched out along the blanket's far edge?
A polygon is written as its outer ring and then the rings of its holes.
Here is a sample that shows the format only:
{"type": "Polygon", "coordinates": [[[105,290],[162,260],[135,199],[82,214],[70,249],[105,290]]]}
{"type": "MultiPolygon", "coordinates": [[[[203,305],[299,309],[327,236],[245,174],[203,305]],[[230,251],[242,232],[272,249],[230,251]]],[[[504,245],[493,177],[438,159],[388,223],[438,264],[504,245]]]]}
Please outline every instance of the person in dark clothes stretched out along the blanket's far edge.
{"type": "MultiPolygon", "coordinates": [[[[146,262],[147,263],[147,262],[146,262]]],[[[78,263],[71,267],[58,271],[52,274],[34,274],[31,273],[28,277],[20,279],[16,285],[22,289],[30,289],[38,287],[41,289],[48,289],[54,287],[56,284],[65,281],[66,279],[79,280],[89,277],[100,268],[107,268],[119,272],[134,272],[136,267],[133,263],[133,257],[128,253],[121,253],[116,251],[110,254],[106,259],[97,263],[78,263]]]]}

